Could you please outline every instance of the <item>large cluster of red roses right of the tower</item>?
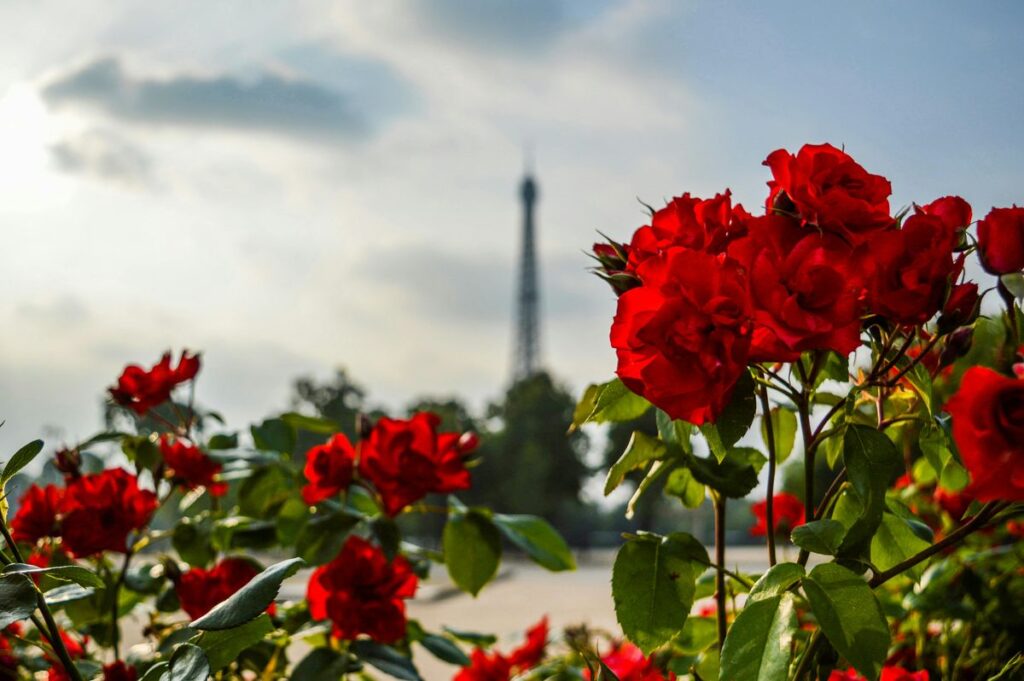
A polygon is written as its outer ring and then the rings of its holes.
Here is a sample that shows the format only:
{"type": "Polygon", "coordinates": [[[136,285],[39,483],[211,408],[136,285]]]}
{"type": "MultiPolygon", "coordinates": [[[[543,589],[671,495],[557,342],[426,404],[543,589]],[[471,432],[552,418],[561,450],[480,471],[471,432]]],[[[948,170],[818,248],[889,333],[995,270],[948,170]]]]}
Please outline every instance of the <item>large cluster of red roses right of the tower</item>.
{"type": "Polygon", "coordinates": [[[765,165],[764,214],[728,190],[685,194],[629,244],[595,248],[620,294],[616,373],[673,418],[716,421],[749,365],[850,354],[865,320],[913,326],[942,312],[959,327],[977,315],[977,286],[961,282],[966,201],[893,216],[889,181],[829,144],[779,150],[765,165]]]}

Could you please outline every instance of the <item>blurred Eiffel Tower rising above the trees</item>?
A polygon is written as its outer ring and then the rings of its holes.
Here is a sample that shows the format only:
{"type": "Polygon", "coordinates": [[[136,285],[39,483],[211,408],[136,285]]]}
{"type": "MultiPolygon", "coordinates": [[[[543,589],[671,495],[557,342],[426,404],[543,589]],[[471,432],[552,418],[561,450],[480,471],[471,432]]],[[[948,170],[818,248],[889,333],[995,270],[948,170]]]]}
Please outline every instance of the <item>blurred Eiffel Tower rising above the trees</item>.
{"type": "Polygon", "coordinates": [[[512,380],[521,381],[536,374],[540,367],[540,291],[537,272],[536,222],[537,182],[527,163],[519,184],[522,201],[522,251],[519,257],[519,282],[516,295],[515,344],[512,356],[512,380]]]}

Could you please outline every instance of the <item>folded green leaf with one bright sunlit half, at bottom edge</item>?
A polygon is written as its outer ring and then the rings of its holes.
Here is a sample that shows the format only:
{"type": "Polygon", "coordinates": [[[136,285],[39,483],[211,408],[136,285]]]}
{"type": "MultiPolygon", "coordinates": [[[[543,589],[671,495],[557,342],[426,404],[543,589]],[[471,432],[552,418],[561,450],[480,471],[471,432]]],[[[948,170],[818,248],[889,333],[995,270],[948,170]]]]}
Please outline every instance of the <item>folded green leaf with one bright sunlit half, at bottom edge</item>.
{"type": "Polygon", "coordinates": [[[748,603],[722,647],[723,681],[785,681],[797,611],[793,594],[748,603]]]}

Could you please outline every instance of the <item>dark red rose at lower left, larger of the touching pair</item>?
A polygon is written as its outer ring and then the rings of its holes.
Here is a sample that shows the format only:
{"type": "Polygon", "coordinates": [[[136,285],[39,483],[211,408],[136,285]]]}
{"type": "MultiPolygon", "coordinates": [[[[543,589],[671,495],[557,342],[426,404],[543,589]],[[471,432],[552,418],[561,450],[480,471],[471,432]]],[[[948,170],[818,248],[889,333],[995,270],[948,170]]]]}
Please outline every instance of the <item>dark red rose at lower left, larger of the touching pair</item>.
{"type": "Polygon", "coordinates": [[[128,533],[144,527],[156,510],[157,496],[122,468],[83,475],[65,490],[60,537],[76,558],[124,553],[128,533]]]}

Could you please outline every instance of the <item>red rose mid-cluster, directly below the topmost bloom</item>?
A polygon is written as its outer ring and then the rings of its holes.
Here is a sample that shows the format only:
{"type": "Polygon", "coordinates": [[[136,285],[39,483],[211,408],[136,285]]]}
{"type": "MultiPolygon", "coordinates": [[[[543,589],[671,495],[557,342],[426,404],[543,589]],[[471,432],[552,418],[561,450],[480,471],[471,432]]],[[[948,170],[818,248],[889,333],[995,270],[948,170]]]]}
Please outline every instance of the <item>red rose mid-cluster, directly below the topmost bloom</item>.
{"type": "Polygon", "coordinates": [[[860,345],[863,285],[853,249],[791,217],[751,218],[749,236],[729,246],[748,271],[754,305],[754,361],[793,361],[805,350],[849,354],[860,345]]]}

